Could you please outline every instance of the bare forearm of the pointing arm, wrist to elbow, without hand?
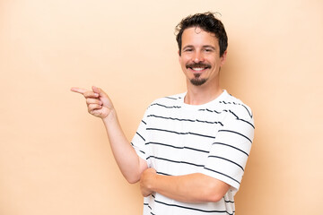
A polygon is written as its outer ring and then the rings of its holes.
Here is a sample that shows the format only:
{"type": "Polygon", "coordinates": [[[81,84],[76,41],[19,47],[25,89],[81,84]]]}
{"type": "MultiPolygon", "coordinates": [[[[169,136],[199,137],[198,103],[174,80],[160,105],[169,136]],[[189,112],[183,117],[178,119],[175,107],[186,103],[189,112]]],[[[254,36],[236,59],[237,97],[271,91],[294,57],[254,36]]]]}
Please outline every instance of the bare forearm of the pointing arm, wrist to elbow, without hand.
{"type": "Polygon", "coordinates": [[[134,148],[127,141],[118,122],[115,111],[103,118],[103,123],[109,137],[109,143],[118,168],[129,183],[135,183],[140,179],[141,173],[147,168],[145,161],[136,154],[134,148]]]}

